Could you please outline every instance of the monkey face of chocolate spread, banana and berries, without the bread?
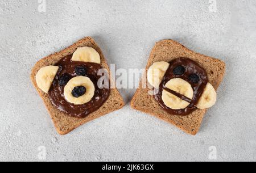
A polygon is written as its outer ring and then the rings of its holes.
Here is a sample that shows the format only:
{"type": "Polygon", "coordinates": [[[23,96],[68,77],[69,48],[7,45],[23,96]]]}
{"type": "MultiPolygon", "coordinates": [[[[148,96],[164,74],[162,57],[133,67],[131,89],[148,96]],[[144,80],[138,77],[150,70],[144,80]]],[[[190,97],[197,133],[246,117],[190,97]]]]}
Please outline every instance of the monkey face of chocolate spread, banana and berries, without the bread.
{"type": "Polygon", "coordinates": [[[147,79],[155,87],[155,99],[172,115],[189,115],[216,102],[216,91],[208,83],[206,71],[189,58],[155,62],[148,69],[147,79]]]}

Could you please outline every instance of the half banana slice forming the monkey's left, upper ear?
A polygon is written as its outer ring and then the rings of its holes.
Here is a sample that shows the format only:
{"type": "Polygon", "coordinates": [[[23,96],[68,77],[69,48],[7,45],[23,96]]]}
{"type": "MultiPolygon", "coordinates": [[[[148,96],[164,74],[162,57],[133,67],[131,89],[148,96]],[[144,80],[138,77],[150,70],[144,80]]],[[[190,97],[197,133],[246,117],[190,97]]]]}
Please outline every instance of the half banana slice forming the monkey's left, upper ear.
{"type": "Polygon", "coordinates": [[[150,83],[151,86],[158,88],[169,66],[170,64],[164,61],[155,62],[150,66],[147,71],[148,83],[150,83]]]}

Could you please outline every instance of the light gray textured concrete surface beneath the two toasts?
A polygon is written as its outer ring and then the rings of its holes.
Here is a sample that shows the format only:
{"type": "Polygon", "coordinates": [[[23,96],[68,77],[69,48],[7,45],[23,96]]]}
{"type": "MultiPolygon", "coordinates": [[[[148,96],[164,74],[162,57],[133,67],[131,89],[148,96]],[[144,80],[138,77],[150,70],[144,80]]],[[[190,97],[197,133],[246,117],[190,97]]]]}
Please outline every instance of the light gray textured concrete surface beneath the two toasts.
{"type": "Polygon", "coordinates": [[[0,1],[0,161],[256,161],[256,1],[39,2],[0,1]],[[30,70],[84,36],[118,68],[143,68],[168,38],[225,61],[197,136],[131,109],[135,89],[120,90],[125,108],[59,136],[30,70]]]}

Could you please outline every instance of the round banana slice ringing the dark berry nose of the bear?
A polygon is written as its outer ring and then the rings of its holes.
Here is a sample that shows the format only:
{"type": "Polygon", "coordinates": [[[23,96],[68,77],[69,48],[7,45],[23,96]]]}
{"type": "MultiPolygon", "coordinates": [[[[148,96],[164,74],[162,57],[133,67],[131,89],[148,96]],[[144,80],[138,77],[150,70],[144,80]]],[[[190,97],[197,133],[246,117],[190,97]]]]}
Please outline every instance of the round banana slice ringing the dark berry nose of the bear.
{"type": "Polygon", "coordinates": [[[90,102],[92,100],[93,95],[95,92],[95,87],[93,85],[93,82],[90,81],[90,78],[84,77],[84,76],[78,76],[75,78],[72,78],[67,85],[64,87],[64,96],[65,99],[69,103],[73,103],[75,105],[85,104],[90,102]],[[75,87],[83,86],[86,88],[86,92],[84,95],[80,96],[79,98],[75,98],[72,95],[72,91],[75,87]]]}

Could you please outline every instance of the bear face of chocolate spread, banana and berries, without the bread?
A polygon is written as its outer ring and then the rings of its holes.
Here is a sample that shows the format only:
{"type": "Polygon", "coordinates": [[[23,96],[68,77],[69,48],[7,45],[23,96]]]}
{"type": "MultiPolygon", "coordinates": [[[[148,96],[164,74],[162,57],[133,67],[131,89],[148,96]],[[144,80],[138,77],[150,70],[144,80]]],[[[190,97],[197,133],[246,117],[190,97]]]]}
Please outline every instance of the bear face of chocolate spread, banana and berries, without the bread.
{"type": "Polygon", "coordinates": [[[77,48],[73,55],[65,56],[55,66],[40,69],[36,83],[48,94],[55,108],[82,118],[100,108],[110,93],[110,88],[98,87],[102,77],[98,75],[100,63],[100,54],[95,49],[77,48]]]}

